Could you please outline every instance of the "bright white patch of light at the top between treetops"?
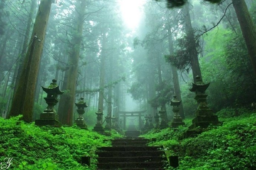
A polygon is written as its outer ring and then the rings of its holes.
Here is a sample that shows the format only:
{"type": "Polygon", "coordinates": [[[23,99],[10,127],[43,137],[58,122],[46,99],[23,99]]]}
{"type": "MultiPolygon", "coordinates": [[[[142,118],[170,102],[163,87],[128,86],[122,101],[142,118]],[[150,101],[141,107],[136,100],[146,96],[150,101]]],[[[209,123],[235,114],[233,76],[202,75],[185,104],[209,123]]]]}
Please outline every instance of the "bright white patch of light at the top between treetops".
{"type": "Polygon", "coordinates": [[[119,0],[122,18],[128,28],[134,29],[140,23],[144,3],[145,0],[119,0]]]}

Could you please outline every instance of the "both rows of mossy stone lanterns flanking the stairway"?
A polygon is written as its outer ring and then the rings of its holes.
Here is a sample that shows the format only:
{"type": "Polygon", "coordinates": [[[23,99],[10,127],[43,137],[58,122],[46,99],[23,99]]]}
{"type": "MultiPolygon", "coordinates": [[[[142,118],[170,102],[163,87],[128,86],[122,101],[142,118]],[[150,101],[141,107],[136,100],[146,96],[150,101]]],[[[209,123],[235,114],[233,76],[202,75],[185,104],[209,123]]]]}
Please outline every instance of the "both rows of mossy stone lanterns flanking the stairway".
{"type": "MultiPolygon", "coordinates": [[[[47,96],[45,99],[47,103],[47,108],[44,110],[43,113],[40,114],[40,119],[35,121],[35,125],[37,126],[61,126],[61,123],[59,122],[59,116],[56,113],[56,110],[54,109],[54,106],[58,103],[57,96],[62,95],[63,92],[59,90],[59,86],[56,84],[57,80],[53,79],[50,86],[47,88],[43,87],[43,91],[47,93],[47,96]]],[[[206,102],[207,95],[205,94],[206,89],[209,87],[210,83],[204,84],[200,76],[196,76],[195,83],[192,83],[192,88],[190,89],[191,92],[195,92],[196,96],[194,99],[197,101],[197,110],[196,110],[196,117],[192,120],[192,125],[188,128],[187,132],[183,135],[184,137],[188,137],[193,135],[194,133],[198,133],[198,127],[200,128],[207,128],[210,124],[217,125],[219,124],[218,117],[216,115],[213,115],[213,110],[208,107],[208,104],[206,102]],[[196,129],[196,130],[195,130],[196,129]]],[[[174,118],[173,122],[171,123],[171,127],[175,128],[180,125],[185,125],[185,123],[182,121],[181,116],[178,114],[181,104],[181,101],[177,99],[177,96],[174,95],[173,99],[170,101],[170,105],[173,106],[173,112],[174,112],[174,118]]],[[[77,112],[79,114],[78,118],[75,120],[75,123],[77,126],[79,126],[82,129],[87,129],[87,126],[85,125],[85,121],[83,120],[82,115],[85,113],[84,108],[87,107],[86,103],[83,101],[83,98],[78,103],[75,103],[77,106],[77,112]]],[[[155,128],[158,129],[164,129],[167,128],[167,118],[165,117],[166,110],[161,107],[160,110],[158,110],[158,113],[154,116],[155,119],[155,128]],[[160,116],[158,116],[158,113],[160,116]],[[161,122],[159,121],[159,118],[161,118],[161,122]]],[[[93,130],[96,132],[103,132],[104,129],[102,127],[102,116],[103,113],[101,112],[101,109],[96,112],[97,115],[97,122],[93,130]]],[[[152,124],[152,116],[145,116],[145,125],[144,125],[144,131],[148,129],[153,129],[154,126],[152,124]]],[[[106,116],[106,130],[110,130],[111,128],[117,128],[118,126],[118,118],[111,116],[106,116]],[[112,125],[111,125],[112,120],[112,125]]]]}

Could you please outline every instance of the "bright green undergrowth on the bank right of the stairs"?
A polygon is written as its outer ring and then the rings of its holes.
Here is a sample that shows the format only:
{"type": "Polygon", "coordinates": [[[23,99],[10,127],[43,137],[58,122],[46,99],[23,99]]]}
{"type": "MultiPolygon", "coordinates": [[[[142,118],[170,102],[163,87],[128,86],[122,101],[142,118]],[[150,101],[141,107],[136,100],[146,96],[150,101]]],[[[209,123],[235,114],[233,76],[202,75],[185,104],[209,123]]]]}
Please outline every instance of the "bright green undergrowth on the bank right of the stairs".
{"type": "MultiPolygon", "coordinates": [[[[188,126],[152,130],[145,138],[156,138],[151,146],[164,146],[167,158],[178,155],[179,167],[170,170],[253,170],[256,169],[256,113],[246,109],[217,112],[222,126],[187,139],[179,137],[188,126]],[[238,114],[237,114],[238,113],[238,114]],[[238,116],[235,116],[238,115],[238,116]],[[232,116],[232,118],[227,118],[232,116]]],[[[191,119],[190,119],[191,121],[191,119]]],[[[188,121],[185,119],[185,122],[188,121]]],[[[190,123],[191,124],[191,123],[190,123]]]]}

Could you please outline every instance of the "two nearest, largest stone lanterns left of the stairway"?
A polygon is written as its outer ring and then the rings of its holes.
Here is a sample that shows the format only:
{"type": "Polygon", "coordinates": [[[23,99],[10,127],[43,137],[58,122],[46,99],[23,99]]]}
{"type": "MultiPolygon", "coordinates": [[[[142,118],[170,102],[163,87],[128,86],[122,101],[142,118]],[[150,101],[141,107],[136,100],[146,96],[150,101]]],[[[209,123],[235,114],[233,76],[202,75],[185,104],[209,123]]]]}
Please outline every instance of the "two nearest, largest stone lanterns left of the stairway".
{"type": "MultiPolygon", "coordinates": [[[[40,114],[40,119],[35,121],[35,125],[37,126],[61,126],[61,123],[59,122],[59,115],[56,113],[54,106],[59,102],[57,100],[57,96],[62,95],[63,92],[59,90],[59,86],[56,84],[56,82],[57,80],[53,79],[52,83],[47,88],[42,86],[43,91],[47,93],[47,96],[44,99],[48,106],[44,110],[44,112],[40,114]]],[[[75,123],[81,129],[87,130],[87,125],[85,124],[85,120],[82,116],[85,113],[84,108],[87,108],[87,105],[83,101],[83,98],[80,98],[80,101],[78,103],[75,103],[75,105],[79,114],[78,118],[75,120],[75,123]]]]}

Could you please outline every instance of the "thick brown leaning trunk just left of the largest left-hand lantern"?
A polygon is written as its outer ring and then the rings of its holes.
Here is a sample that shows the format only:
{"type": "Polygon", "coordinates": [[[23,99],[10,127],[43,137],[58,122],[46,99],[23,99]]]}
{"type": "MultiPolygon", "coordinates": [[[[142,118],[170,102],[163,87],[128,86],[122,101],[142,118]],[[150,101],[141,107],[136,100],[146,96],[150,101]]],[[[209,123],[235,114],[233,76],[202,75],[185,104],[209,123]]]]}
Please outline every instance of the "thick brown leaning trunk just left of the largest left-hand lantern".
{"type": "Polygon", "coordinates": [[[10,110],[10,116],[23,114],[23,120],[26,122],[32,122],[35,84],[51,5],[52,0],[41,0],[40,2],[29,48],[24,59],[22,74],[20,75],[10,110]]]}

